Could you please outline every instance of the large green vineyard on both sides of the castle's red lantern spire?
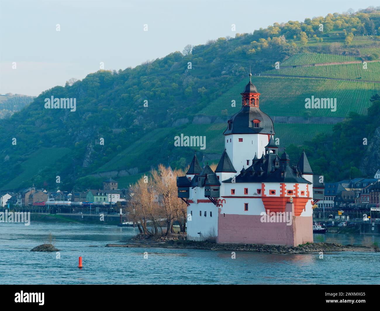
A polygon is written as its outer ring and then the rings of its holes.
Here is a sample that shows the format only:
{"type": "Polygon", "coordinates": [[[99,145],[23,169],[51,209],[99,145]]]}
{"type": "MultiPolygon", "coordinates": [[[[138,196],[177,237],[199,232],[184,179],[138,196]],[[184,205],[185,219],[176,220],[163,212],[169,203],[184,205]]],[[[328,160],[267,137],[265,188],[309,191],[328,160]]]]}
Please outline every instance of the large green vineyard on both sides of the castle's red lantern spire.
{"type": "MultiPolygon", "coordinates": [[[[371,64],[372,65],[372,64],[371,64]]],[[[309,68],[309,67],[307,67],[309,68]]],[[[306,68],[306,69],[307,69],[306,68]]],[[[369,82],[338,81],[296,77],[253,77],[260,95],[260,109],[270,116],[346,117],[350,111],[366,114],[369,98],[379,92],[380,84],[369,82]],[[284,97],[284,94],[286,95],[284,97]],[[337,98],[337,110],[305,109],[305,98],[337,98]]],[[[232,87],[217,100],[204,107],[199,114],[222,116],[227,109],[228,116],[241,109],[241,96],[246,80],[232,87]],[[231,100],[236,107],[231,107],[231,100]]]]}

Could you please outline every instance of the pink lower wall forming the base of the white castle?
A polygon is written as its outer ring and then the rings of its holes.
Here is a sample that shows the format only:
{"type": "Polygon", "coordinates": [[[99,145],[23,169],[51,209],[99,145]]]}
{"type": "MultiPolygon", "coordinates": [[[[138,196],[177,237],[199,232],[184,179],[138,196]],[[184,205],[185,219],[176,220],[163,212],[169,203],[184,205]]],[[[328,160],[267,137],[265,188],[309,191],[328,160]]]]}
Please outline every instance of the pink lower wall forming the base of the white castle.
{"type": "MultiPolygon", "coordinates": [[[[260,215],[218,215],[218,243],[248,243],[297,246],[313,242],[312,217],[293,216],[292,224],[262,223],[260,215]]],[[[287,203],[286,211],[294,212],[287,203]]],[[[292,214],[294,215],[294,213],[292,214]]]]}

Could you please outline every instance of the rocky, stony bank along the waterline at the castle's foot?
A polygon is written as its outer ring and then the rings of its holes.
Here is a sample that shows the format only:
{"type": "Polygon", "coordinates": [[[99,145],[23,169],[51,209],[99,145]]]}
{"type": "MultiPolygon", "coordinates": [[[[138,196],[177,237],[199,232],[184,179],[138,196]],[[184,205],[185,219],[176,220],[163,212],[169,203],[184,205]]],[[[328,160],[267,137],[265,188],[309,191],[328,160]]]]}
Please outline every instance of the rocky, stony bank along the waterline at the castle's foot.
{"type": "Polygon", "coordinates": [[[166,242],[130,242],[126,244],[107,244],[106,247],[159,247],[159,248],[191,248],[191,249],[209,249],[225,251],[251,251],[277,254],[303,254],[319,252],[379,252],[376,246],[357,246],[341,245],[338,243],[307,243],[298,246],[286,245],[258,245],[258,244],[218,244],[212,242],[187,241],[187,240],[168,240],[166,242]]]}

